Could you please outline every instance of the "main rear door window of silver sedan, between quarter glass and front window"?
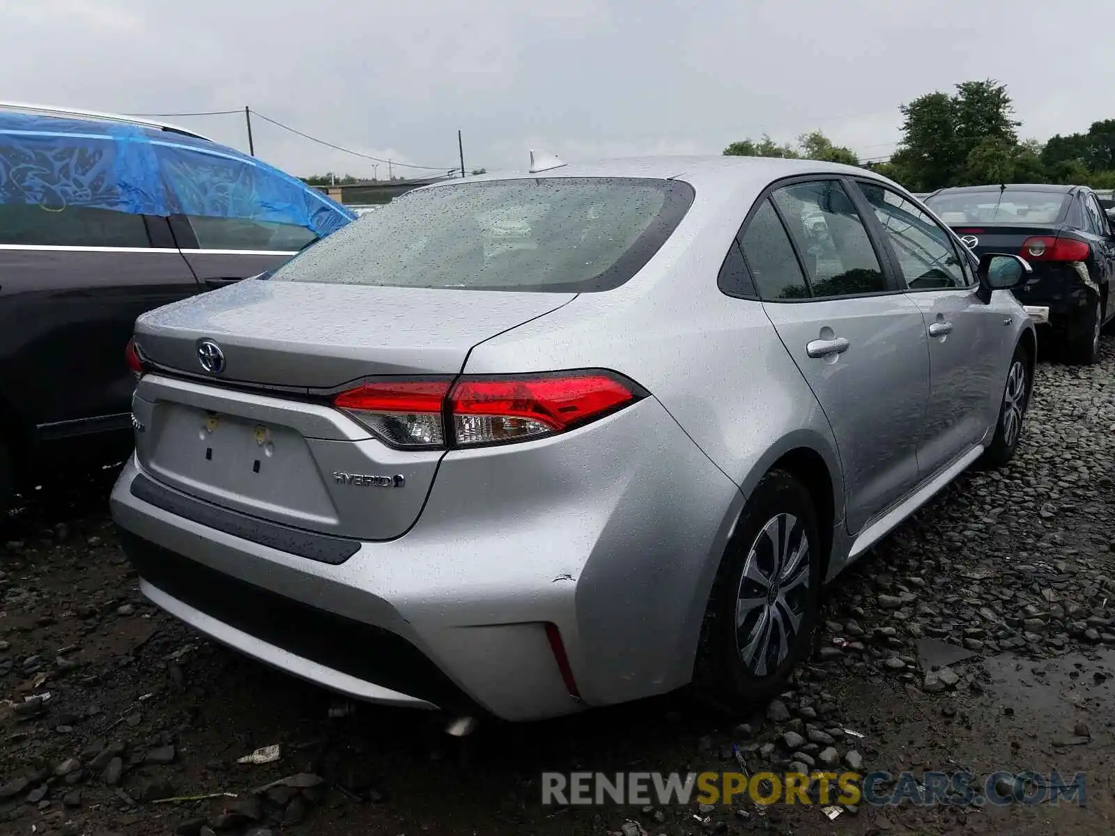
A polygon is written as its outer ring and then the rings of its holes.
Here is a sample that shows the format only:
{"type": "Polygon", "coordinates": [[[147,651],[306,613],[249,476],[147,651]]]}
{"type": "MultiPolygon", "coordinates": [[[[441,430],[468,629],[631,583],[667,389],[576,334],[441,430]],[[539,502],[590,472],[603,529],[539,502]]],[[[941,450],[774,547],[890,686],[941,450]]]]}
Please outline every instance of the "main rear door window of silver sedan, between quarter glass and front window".
{"type": "Polygon", "coordinates": [[[837,181],[796,183],[773,198],[805,261],[814,297],[888,290],[867,230],[837,181]]]}

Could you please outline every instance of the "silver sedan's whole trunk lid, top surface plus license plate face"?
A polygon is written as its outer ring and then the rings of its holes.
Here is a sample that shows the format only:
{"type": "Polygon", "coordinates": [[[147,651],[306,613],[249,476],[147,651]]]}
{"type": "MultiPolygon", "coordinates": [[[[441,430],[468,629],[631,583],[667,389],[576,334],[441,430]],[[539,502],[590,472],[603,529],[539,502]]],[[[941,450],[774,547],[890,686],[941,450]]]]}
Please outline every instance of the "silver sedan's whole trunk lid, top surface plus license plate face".
{"type": "Polygon", "coordinates": [[[400,536],[444,454],[394,449],[307,390],[457,373],[477,343],[573,298],[248,280],[162,308],[139,318],[136,343],[194,379],[143,377],[136,455],[158,482],[223,508],[356,539],[400,536]],[[224,353],[219,376],[198,360],[206,339],[224,353]]]}

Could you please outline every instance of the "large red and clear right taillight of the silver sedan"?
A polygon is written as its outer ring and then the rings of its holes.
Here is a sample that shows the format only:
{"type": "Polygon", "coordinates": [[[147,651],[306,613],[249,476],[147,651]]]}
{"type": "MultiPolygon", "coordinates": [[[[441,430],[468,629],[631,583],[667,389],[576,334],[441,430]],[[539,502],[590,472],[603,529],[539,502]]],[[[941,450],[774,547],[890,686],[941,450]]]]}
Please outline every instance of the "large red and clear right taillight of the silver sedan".
{"type": "Polygon", "coordinates": [[[333,405],[392,447],[477,447],[553,436],[644,397],[610,371],[382,380],[333,405]]]}

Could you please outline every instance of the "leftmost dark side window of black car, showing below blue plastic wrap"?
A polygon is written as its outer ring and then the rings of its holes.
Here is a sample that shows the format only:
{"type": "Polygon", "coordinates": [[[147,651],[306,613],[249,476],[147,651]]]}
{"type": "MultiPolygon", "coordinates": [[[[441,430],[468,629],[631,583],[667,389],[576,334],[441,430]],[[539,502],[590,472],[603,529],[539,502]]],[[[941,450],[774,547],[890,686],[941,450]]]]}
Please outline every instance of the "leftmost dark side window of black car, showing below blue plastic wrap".
{"type": "Polygon", "coordinates": [[[0,204],[0,244],[149,246],[143,215],[85,206],[0,204]]]}

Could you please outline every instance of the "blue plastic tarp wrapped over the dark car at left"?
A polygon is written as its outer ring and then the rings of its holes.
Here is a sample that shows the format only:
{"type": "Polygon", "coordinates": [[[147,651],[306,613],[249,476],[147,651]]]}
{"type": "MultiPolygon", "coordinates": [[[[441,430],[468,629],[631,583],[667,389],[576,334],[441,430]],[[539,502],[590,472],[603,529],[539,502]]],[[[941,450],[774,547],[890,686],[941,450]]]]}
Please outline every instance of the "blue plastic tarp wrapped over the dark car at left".
{"type": "Polygon", "coordinates": [[[244,217],[328,235],[356,214],[237,150],[127,123],[0,111],[0,204],[244,217]]]}

